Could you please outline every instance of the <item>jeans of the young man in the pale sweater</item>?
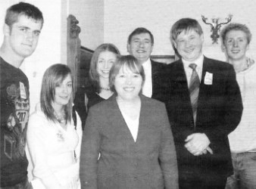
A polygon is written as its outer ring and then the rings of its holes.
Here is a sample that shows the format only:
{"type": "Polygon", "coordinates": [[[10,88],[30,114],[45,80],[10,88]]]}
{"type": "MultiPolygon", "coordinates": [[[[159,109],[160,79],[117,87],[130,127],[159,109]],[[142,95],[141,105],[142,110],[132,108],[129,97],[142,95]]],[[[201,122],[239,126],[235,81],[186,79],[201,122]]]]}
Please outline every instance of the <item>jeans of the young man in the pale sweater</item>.
{"type": "Polygon", "coordinates": [[[225,189],[256,188],[256,152],[232,153],[234,175],[227,178],[225,189]]]}

